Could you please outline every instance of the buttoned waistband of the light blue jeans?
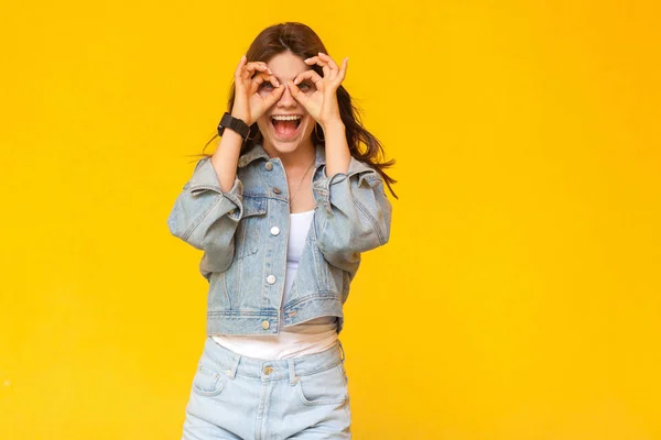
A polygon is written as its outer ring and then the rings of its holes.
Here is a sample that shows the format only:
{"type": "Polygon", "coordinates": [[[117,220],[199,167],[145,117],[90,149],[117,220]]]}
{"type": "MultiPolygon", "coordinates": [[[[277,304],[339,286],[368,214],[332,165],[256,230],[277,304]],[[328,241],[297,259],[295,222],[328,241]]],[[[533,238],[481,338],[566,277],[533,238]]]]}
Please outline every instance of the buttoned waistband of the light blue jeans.
{"type": "Polygon", "coordinates": [[[204,352],[210,361],[227,370],[232,378],[238,374],[262,381],[289,380],[291,383],[295,383],[297,376],[319,373],[344,362],[344,350],[339,340],[329,349],[318,353],[291,359],[263,360],[235,353],[214,342],[209,337],[205,341],[204,352]]]}

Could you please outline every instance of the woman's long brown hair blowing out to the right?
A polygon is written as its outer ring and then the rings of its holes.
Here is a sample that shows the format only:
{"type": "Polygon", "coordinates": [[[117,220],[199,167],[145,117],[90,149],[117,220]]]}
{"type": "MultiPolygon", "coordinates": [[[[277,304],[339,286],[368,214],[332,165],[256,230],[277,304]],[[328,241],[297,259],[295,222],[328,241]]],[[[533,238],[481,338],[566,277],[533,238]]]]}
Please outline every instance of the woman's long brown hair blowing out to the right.
{"type": "MultiPolygon", "coordinates": [[[[328,54],[326,47],[317,34],[307,25],[296,22],[288,22],[274,24],[264,29],[252,42],[248,52],[246,53],[247,62],[264,62],[268,63],[273,56],[283,52],[291,52],[294,55],[300,56],[303,59],[316,56],[319,52],[328,54]]],[[[322,67],[314,65],[312,69],[323,76],[322,67]]],[[[230,86],[229,100],[227,102],[228,112],[231,113],[231,109],[235,101],[235,84],[234,80],[230,86]]],[[[398,198],[392,190],[391,184],[397,183],[390,177],[384,168],[394,165],[394,160],[388,162],[381,162],[384,156],[383,147],[377,138],[365,129],[362,125],[361,114],[358,107],[351,102],[349,92],[339,86],[337,89],[337,105],[339,107],[339,116],[345,124],[345,132],[347,136],[347,144],[349,145],[349,152],[356,160],[365,162],[372,168],[375,168],[388,185],[388,189],[398,198]],[[365,145],[365,151],[360,150],[360,145],[365,145]]],[[[323,133],[322,127],[317,123],[312,132],[312,142],[314,145],[322,144],[326,145],[324,138],[319,136],[318,133],[323,133]]],[[[204,150],[208,144],[216,139],[218,134],[214,135],[206,143],[204,150]]],[[[241,146],[241,154],[252,147],[254,144],[262,142],[263,136],[257,127],[257,122],[250,127],[250,134],[243,145],[241,146]]]]}

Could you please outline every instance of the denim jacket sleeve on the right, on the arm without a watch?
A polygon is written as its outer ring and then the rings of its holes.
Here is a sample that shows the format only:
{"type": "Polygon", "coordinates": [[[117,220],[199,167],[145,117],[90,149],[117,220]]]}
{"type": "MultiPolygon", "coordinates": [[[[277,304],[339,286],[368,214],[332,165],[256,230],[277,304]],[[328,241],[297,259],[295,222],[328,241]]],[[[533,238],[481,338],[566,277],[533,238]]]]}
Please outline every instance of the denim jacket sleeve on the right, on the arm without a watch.
{"type": "Polygon", "coordinates": [[[318,207],[315,215],[317,243],[326,261],[355,273],[360,253],[390,239],[392,206],[383,180],[372,168],[351,157],[347,174],[336,174],[313,185],[318,207]]]}

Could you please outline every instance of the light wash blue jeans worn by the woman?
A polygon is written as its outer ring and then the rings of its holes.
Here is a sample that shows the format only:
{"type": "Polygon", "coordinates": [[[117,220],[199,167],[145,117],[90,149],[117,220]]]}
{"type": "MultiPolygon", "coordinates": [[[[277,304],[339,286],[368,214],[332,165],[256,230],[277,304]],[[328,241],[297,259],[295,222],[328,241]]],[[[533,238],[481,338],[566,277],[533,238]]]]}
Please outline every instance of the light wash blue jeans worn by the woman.
{"type": "Polygon", "coordinates": [[[350,424],[339,341],[321,353],[267,361],[207,338],[183,439],[350,439],[350,424]]]}

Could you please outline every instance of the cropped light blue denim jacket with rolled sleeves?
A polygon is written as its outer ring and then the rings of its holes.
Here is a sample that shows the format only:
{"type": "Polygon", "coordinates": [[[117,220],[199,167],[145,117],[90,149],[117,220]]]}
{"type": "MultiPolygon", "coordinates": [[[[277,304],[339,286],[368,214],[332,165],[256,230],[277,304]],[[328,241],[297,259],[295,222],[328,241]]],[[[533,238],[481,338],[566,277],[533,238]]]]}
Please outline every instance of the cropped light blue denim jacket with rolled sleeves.
{"type": "Polygon", "coordinates": [[[209,336],[275,334],[323,316],[337,317],[342,331],[360,253],[388,242],[392,207],[381,176],[354,157],[347,174],[327,177],[324,147],[317,145],[313,169],[313,221],[282,304],[290,221],[282,162],[254,145],[239,157],[227,193],[210,158],[197,163],[167,227],[204,251],[199,272],[209,283],[209,336]]]}

